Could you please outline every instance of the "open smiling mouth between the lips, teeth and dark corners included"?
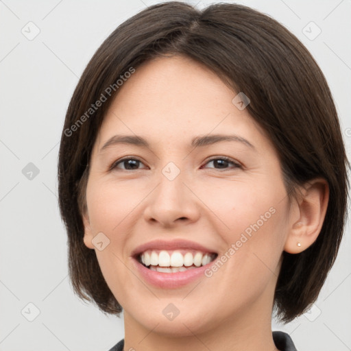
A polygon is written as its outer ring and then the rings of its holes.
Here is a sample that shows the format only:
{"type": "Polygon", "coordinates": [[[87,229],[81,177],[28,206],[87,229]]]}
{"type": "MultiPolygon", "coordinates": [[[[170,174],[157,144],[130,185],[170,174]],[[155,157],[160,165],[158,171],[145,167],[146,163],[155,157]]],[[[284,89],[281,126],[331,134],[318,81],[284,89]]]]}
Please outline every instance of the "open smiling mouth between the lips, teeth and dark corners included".
{"type": "Polygon", "coordinates": [[[144,267],[161,273],[177,273],[208,265],[217,258],[214,252],[188,250],[147,250],[138,254],[136,260],[144,267]]]}

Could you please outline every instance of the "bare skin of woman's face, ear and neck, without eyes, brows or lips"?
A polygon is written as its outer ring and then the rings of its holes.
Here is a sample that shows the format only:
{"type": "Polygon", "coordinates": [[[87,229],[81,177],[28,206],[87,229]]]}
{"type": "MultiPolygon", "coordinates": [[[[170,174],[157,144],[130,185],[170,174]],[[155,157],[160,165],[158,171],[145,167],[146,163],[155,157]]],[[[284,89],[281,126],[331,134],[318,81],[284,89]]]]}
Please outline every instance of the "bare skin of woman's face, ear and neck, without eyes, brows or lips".
{"type": "Polygon", "coordinates": [[[156,58],[123,84],[104,118],[90,160],[84,243],[123,306],[124,350],[277,350],[271,311],[282,252],[297,254],[317,239],[328,186],[316,179],[289,203],[278,154],[247,109],[232,103],[235,95],[202,64],[156,58]],[[119,144],[99,153],[115,134],[142,136],[150,147],[119,144]],[[207,134],[237,134],[255,149],[238,141],[190,147],[207,134]],[[109,169],[125,156],[141,162],[109,169]],[[221,167],[210,156],[241,167],[221,167]],[[162,174],[168,162],[180,170],[174,180],[162,174]],[[132,265],[132,250],[154,239],[189,239],[221,256],[272,207],[210,278],[160,289],[132,265]],[[102,251],[92,243],[99,232],[110,240],[102,251]],[[172,321],[162,313],[170,303],[180,311],[172,321]]]}

